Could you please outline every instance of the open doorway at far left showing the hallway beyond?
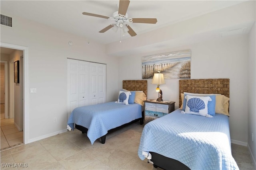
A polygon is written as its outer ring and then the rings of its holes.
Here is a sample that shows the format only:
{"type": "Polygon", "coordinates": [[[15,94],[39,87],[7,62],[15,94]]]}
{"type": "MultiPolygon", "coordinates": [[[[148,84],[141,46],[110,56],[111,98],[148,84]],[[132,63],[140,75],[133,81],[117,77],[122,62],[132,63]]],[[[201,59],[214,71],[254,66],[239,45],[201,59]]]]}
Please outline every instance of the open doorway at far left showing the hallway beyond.
{"type": "Polygon", "coordinates": [[[1,47],[1,150],[23,144],[22,57],[22,50],[1,47]],[[20,63],[18,73],[21,78],[18,83],[14,83],[14,78],[12,78],[14,74],[14,61],[19,61],[20,63]],[[15,96],[15,98],[10,98],[10,96],[15,96]],[[8,99],[10,99],[9,102],[8,99]]]}

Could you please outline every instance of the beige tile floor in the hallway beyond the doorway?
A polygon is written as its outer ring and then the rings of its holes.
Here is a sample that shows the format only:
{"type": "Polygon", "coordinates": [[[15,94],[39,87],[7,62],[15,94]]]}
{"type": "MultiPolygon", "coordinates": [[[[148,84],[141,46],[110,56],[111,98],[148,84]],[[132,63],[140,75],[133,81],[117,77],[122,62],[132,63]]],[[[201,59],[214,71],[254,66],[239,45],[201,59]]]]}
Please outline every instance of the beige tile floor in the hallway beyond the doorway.
{"type": "Polygon", "coordinates": [[[0,129],[1,129],[1,150],[10,147],[13,145],[17,145],[19,143],[23,143],[23,131],[19,131],[14,125],[14,119],[5,119],[4,118],[4,104],[0,105],[0,129]]]}

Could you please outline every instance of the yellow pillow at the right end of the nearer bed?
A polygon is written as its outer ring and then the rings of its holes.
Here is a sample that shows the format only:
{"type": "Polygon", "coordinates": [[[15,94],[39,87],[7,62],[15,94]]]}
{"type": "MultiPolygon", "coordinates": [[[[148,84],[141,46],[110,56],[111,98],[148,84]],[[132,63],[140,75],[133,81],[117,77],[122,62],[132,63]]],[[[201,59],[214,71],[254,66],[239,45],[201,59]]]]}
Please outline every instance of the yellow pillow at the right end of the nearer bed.
{"type": "Polygon", "coordinates": [[[215,113],[228,115],[229,98],[224,95],[216,95],[215,113]]]}

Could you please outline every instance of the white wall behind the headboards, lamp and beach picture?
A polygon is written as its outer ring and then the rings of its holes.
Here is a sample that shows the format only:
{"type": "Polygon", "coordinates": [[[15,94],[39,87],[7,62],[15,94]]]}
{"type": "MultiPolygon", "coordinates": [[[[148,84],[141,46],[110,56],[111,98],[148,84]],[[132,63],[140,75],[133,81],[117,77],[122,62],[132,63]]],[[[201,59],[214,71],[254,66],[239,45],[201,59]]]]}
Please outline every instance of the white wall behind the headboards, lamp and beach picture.
{"type": "MultiPolygon", "coordinates": [[[[119,87],[121,80],[141,79],[141,57],[172,51],[191,49],[191,78],[230,78],[230,135],[232,142],[246,145],[248,134],[248,37],[236,35],[218,38],[201,43],[142,53],[119,59],[119,87]]],[[[148,79],[148,98],[156,99],[156,85],[148,79]]],[[[163,100],[174,101],[178,108],[178,79],[167,79],[160,86],[163,100]]]]}

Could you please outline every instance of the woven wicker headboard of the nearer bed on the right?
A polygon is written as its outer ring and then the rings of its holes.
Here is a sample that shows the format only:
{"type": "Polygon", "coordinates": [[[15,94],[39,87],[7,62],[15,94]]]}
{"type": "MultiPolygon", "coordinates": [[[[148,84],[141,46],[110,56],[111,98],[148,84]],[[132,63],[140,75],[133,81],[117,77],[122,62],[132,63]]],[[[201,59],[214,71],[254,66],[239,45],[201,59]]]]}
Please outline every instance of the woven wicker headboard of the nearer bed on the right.
{"type": "Polygon", "coordinates": [[[229,98],[229,79],[186,79],[179,80],[179,107],[181,106],[181,96],[183,92],[201,94],[223,94],[229,98]]]}

